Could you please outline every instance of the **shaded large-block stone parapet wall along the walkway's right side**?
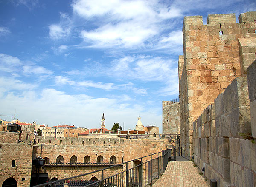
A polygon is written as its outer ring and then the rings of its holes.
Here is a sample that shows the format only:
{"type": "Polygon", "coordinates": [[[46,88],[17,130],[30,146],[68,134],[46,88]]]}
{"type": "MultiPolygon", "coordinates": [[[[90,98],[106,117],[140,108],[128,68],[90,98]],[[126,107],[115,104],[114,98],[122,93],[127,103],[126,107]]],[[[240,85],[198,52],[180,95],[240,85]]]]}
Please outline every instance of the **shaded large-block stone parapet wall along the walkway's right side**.
{"type": "Polygon", "coordinates": [[[256,61],[193,123],[195,164],[218,187],[256,186],[255,96],[256,61]]]}

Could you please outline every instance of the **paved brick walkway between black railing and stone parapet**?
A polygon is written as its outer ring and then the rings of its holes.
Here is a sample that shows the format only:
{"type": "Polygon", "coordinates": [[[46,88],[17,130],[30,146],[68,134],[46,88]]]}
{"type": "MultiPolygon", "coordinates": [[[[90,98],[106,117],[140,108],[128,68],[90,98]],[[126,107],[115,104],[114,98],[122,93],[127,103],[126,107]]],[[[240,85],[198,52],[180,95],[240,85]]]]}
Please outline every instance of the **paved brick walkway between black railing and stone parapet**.
{"type": "Polygon", "coordinates": [[[191,161],[171,161],[153,187],[209,187],[191,161]]]}

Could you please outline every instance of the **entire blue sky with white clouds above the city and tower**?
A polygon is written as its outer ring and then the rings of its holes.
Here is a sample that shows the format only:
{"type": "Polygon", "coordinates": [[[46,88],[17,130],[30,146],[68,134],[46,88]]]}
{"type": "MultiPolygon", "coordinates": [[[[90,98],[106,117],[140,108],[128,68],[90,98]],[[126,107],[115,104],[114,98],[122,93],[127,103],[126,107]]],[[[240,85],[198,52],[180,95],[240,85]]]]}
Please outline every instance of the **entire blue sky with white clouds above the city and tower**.
{"type": "Polygon", "coordinates": [[[162,132],[162,101],[179,95],[183,17],[255,10],[253,0],[0,0],[0,114],[93,128],[104,112],[109,129],[133,129],[140,115],[162,132]]]}

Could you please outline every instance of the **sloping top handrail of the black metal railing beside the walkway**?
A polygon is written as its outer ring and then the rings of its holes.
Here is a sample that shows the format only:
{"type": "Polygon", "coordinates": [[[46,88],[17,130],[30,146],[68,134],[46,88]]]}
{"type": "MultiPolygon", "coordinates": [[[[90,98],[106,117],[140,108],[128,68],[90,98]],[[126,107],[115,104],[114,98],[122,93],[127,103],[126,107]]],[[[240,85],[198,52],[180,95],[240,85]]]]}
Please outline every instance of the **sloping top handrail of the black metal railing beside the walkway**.
{"type": "MultiPolygon", "coordinates": [[[[44,187],[46,185],[49,185],[49,184],[55,184],[55,183],[58,183],[58,182],[61,182],[61,181],[67,181],[67,180],[70,180],[70,179],[73,179],[73,178],[78,178],[78,177],[81,177],[81,176],[86,176],[86,175],[90,175],[92,173],[96,173],[96,172],[101,172],[103,170],[107,170],[107,169],[110,169],[112,167],[117,167],[117,166],[120,166],[120,165],[124,165],[124,164],[128,164],[129,162],[132,162],[132,161],[135,161],[135,160],[139,160],[139,159],[143,159],[145,157],[148,157],[148,156],[153,156],[155,154],[158,154],[158,153],[163,153],[163,151],[160,151],[160,152],[157,152],[157,153],[153,153],[153,154],[150,154],[150,155],[147,155],[147,156],[142,156],[140,158],[137,158],[137,159],[133,159],[133,160],[130,160],[130,161],[126,161],[126,162],[122,162],[121,164],[116,164],[116,165],[113,165],[113,166],[109,166],[109,167],[106,167],[106,168],[103,168],[103,169],[100,169],[100,170],[96,170],[96,171],[91,171],[89,173],[84,173],[84,174],[80,174],[80,175],[77,175],[77,176],[73,176],[73,177],[69,177],[69,178],[63,178],[63,179],[60,179],[58,181],[50,181],[50,182],[47,182],[47,183],[44,183],[44,184],[38,184],[36,186],[33,186],[33,187],[44,187]]],[[[167,152],[166,152],[167,153],[167,152]]],[[[164,153],[164,155],[166,154],[164,153]]],[[[163,154],[162,154],[163,156],[163,154]]],[[[136,166],[137,167],[137,166],[136,166]]],[[[127,168],[128,170],[128,168],[127,168]]],[[[99,180],[99,181],[102,181],[102,180],[99,180]]],[[[99,182],[97,181],[97,182],[99,182]]]]}

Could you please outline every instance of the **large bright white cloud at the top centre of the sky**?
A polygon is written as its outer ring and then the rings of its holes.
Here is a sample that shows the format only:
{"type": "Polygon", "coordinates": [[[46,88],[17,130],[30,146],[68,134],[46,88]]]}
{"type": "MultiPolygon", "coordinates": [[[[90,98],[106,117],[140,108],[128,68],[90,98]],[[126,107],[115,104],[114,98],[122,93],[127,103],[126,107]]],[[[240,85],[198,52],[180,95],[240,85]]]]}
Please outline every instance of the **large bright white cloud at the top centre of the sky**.
{"type": "Polygon", "coordinates": [[[76,0],[72,7],[84,19],[102,20],[96,29],[81,31],[86,45],[99,48],[148,45],[166,29],[164,20],[182,15],[174,6],[166,8],[157,0],[76,0]]]}

